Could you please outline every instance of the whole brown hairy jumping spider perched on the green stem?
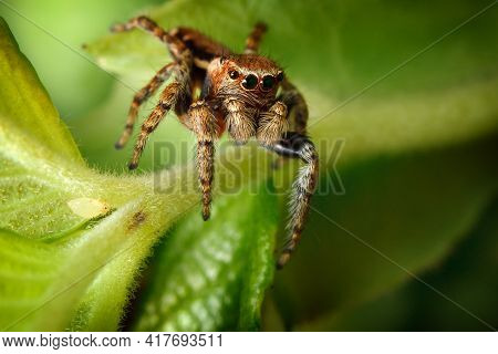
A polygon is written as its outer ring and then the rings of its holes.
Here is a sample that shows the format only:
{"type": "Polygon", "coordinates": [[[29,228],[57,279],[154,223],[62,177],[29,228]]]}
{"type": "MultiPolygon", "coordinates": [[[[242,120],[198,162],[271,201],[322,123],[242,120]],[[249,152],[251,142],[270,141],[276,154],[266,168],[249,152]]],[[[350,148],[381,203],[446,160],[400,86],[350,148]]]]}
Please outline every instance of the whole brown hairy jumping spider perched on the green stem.
{"type": "Polygon", "coordinates": [[[197,137],[197,169],[205,220],[209,218],[211,204],[214,142],[225,131],[237,143],[243,144],[256,137],[261,146],[280,156],[301,159],[304,166],[293,184],[290,201],[290,236],[277,263],[282,267],[301,238],[317,185],[318,154],[305,135],[308,107],[304,98],[273,61],[257,53],[266,25],[258,23],[255,27],[243,54],[235,54],[193,29],[165,31],[147,17],[116,24],[112,31],[134,28],[158,38],[174,61],[162,67],[134,96],[116,148],[129,139],[141,104],[172,76],[154,111],[142,124],[128,167],[137,167],[148,135],[166,113],[174,110],[178,119],[197,137]],[[201,87],[200,96],[194,97],[198,87],[201,87]]]}

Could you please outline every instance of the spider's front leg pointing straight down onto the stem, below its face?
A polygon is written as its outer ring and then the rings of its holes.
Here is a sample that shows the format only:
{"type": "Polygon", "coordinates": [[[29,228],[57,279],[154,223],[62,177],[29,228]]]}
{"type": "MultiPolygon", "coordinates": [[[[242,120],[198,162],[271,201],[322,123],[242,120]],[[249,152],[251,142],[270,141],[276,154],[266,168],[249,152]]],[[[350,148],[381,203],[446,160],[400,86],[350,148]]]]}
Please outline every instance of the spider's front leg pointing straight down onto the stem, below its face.
{"type": "Polygon", "coordinates": [[[197,136],[197,171],[200,191],[203,194],[203,219],[210,216],[211,186],[215,174],[215,138],[218,126],[215,115],[205,101],[190,105],[188,117],[197,136]]]}

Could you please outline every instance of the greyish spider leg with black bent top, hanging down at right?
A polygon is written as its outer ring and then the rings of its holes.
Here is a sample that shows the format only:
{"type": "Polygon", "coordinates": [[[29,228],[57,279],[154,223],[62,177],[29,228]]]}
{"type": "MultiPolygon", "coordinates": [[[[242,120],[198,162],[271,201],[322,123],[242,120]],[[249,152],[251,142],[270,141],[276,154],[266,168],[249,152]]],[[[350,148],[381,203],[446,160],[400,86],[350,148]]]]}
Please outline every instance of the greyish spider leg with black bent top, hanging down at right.
{"type": "Polygon", "coordinates": [[[282,268],[301,239],[304,221],[310,210],[311,196],[317,187],[319,158],[313,143],[305,135],[295,132],[284,134],[280,142],[267,147],[281,156],[300,158],[304,163],[292,185],[288,225],[290,236],[277,262],[277,267],[282,268]]]}

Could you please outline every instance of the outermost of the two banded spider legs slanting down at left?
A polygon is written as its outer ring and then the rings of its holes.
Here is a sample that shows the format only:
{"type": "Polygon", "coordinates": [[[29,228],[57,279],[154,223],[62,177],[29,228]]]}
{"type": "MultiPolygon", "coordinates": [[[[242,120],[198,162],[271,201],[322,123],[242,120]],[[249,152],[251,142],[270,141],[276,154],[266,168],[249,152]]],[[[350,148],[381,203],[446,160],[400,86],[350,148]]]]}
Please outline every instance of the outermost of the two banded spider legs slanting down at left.
{"type": "Polygon", "coordinates": [[[138,91],[133,97],[132,105],[128,111],[128,117],[126,118],[126,125],[120,137],[120,139],[114,145],[116,148],[123,148],[129,139],[133,132],[133,126],[138,114],[139,106],[147,101],[160,86],[163,82],[168,80],[172,69],[176,63],[169,63],[163,66],[156,75],[145,85],[141,91],[138,91]]]}

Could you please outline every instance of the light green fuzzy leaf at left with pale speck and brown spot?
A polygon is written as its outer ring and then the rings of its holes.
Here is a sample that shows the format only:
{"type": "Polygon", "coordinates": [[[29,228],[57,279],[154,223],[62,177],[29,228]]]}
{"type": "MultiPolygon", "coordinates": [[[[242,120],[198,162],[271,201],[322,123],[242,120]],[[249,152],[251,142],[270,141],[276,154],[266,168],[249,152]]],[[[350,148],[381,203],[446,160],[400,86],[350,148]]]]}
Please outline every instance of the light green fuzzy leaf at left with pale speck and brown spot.
{"type": "Polygon", "coordinates": [[[197,195],[156,196],[169,173],[155,184],[89,169],[0,31],[0,329],[116,330],[151,247],[197,195]]]}

